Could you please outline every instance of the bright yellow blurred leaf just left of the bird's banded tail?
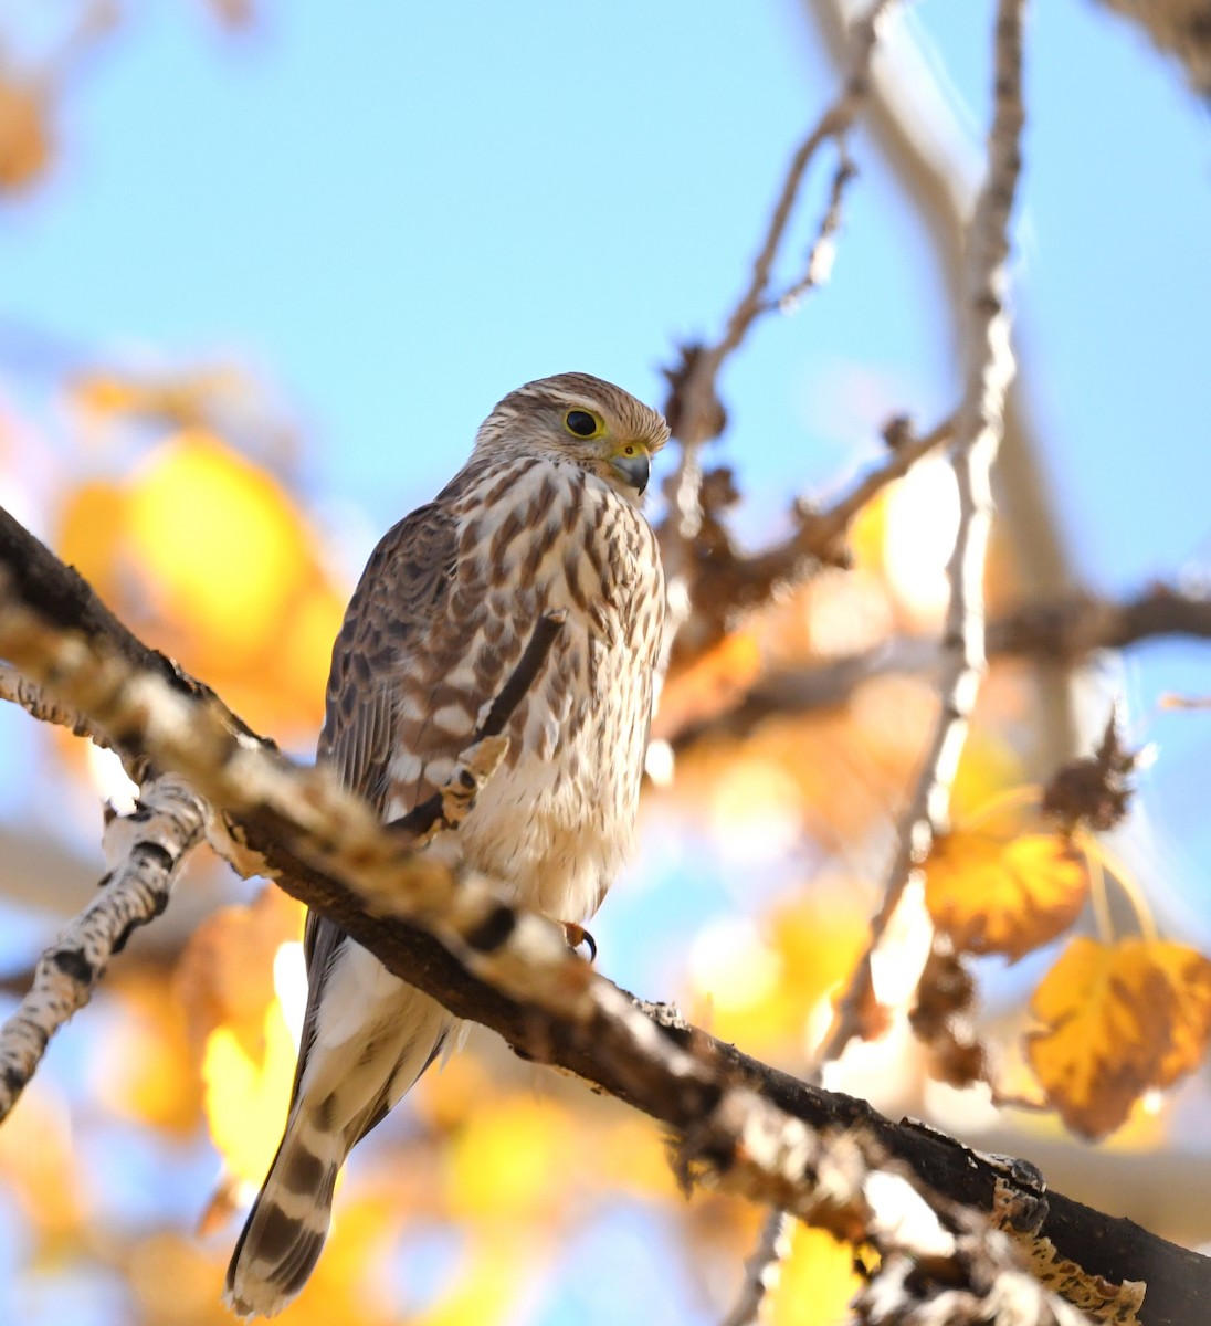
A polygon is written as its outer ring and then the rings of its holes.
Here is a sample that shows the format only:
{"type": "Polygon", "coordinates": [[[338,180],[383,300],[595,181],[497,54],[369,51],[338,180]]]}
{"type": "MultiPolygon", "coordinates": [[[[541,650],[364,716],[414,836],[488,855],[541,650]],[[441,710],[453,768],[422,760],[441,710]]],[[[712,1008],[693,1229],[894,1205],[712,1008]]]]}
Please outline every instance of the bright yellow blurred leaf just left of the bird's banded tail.
{"type": "Polygon", "coordinates": [[[265,1010],[264,1037],[257,1059],[231,1028],[216,1026],[202,1061],[211,1138],[228,1168],[252,1184],[264,1179],[281,1140],[294,1079],[296,1046],[276,1002],[265,1010]]]}

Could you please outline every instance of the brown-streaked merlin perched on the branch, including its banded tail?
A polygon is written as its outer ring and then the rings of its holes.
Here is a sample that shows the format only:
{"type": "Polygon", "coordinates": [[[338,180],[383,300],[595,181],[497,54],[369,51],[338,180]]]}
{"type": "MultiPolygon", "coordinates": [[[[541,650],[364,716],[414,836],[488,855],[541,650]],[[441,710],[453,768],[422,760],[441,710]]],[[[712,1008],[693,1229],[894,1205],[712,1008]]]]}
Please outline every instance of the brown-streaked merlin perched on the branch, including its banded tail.
{"type": "MultiPolygon", "coordinates": [[[[572,924],[601,904],[634,838],[665,621],[641,505],[667,438],[654,410],[588,374],[511,392],[436,500],[379,542],[333,647],[318,760],[393,821],[451,777],[539,621],[566,613],[503,765],[426,850],[572,924]]],[[[285,1134],[227,1272],[240,1315],[269,1317],[306,1282],[350,1148],[455,1028],[314,912],[304,949],[285,1134]]]]}

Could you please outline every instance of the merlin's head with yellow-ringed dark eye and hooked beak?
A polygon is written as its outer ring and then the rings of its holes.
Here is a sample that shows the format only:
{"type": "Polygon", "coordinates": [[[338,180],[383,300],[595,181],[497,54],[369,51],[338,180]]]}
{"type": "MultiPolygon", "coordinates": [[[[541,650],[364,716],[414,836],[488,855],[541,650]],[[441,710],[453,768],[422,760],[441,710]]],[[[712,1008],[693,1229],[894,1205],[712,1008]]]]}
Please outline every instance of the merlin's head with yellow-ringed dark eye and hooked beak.
{"type": "Polygon", "coordinates": [[[480,452],[572,461],[638,501],[669,424],[629,391],[586,373],[561,373],[511,391],[484,420],[480,452]]]}

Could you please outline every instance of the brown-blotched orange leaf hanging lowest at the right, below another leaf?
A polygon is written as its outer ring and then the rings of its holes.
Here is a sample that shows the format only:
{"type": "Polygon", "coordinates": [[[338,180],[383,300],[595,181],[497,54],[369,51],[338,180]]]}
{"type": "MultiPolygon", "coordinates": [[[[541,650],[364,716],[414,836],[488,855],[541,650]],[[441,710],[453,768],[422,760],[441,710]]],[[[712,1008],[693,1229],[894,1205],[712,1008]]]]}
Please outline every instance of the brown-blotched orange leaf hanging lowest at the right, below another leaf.
{"type": "Polygon", "coordinates": [[[1047,1030],[1027,1057],[1048,1101],[1074,1132],[1100,1138],[1161,1082],[1173,1045],[1175,997],[1155,943],[1074,939],[1044,976],[1031,1010],[1047,1030]]]}

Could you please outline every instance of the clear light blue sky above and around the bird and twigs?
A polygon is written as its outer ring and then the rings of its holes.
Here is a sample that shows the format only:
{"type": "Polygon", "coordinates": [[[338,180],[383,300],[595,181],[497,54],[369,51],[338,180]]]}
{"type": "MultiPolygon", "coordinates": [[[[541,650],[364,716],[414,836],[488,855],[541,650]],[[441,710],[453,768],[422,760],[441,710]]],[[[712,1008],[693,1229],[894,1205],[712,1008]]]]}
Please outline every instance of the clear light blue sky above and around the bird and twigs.
{"type": "MultiPolygon", "coordinates": [[[[991,8],[915,11],[976,147],[991,8]]],[[[29,50],[64,15],[8,11],[29,50]]],[[[836,88],[792,0],[263,11],[231,36],[200,3],[134,4],[70,80],[52,178],[0,207],[0,391],[38,395],[36,347],[48,374],[245,362],[301,430],[309,500],[365,513],[351,564],[517,383],[578,369],[658,403],[675,343],[718,333],[836,88]]],[[[1037,3],[1027,58],[1015,301],[1074,565],[1106,593],[1204,575],[1211,122],[1088,0],[1037,3]]],[[[752,534],[875,456],[893,411],[928,424],[955,400],[928,248],[865,137],[854,154],[830,285],[764,322],[723,381],[752,534]]],[[[1158,887],[1203,910],[1211,716],[1153,707],[1211,693],[1207,658],[1154,646],[1115,679],[1161,745],[1158,887]]]]}

